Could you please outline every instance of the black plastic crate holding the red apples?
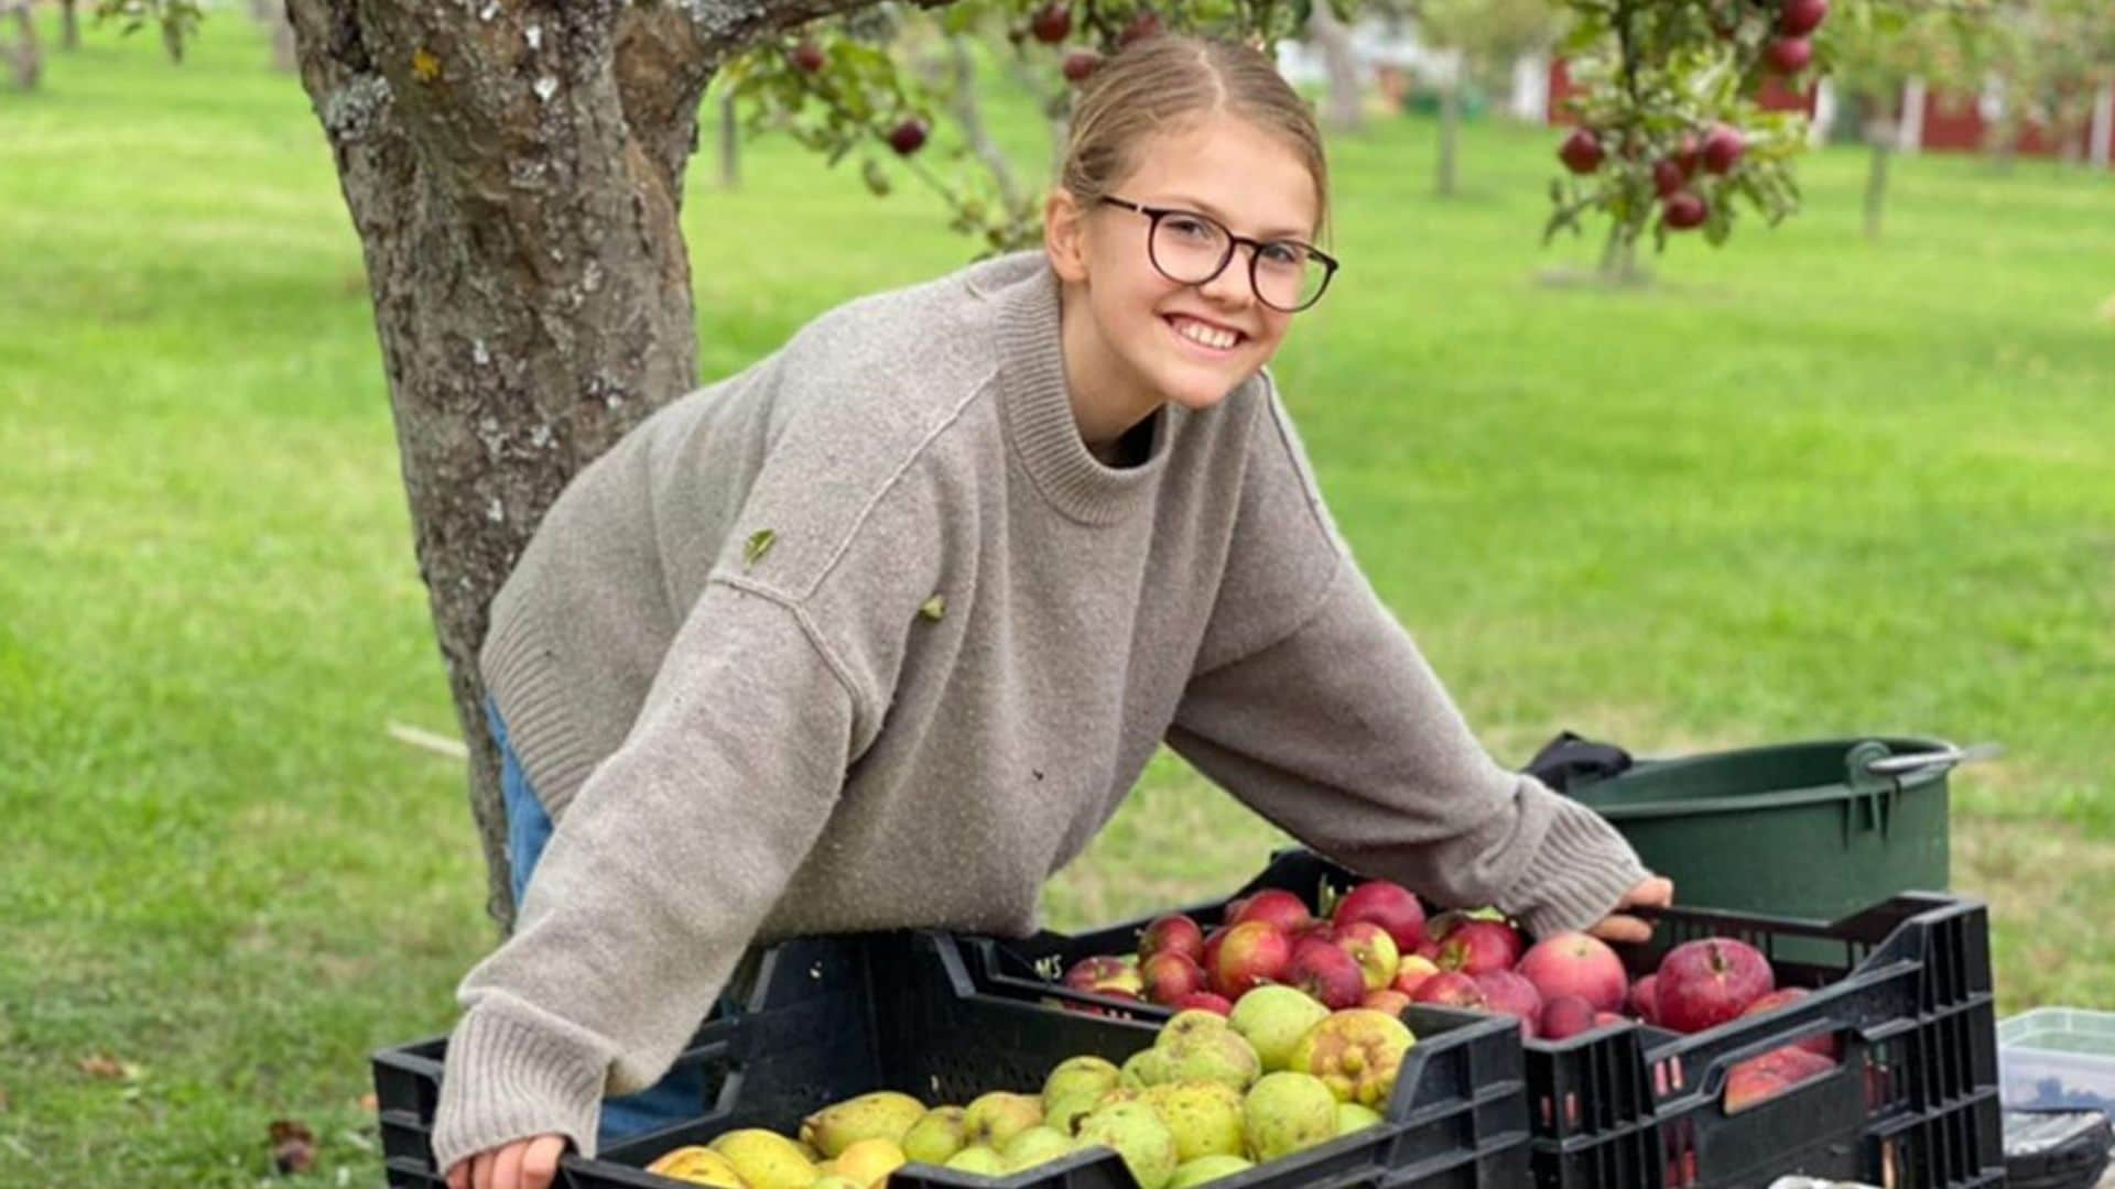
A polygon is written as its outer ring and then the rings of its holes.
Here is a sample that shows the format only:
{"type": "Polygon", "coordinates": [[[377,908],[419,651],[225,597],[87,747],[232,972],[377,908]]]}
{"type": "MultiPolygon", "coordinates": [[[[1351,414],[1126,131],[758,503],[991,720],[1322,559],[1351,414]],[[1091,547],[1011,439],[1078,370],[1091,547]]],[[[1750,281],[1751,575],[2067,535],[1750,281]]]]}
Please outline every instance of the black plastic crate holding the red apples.
{"type": "MultiPolygon", "coordinates": [[[[1356,882],[1358,874],[1320,855],[1282,850],[1235,897],[1284,889],[1316,910],[1356,882]]],[[[1210,929],[1229,899],[1176,912],[1210,929]]],[[[1781,986],[1813,994],[1694,1037],[1622,1024],[1527,1041],[1538,1187],[1732,1189],[1794,1172],[1889,1189],[2003,1185],[1990,922],[1980,901],[1899,895],[1834,925],[1684,908],[1656,916],[1652,944],[1616,946],[1633,977],[1656,969],[1673,946],[1717,935],[1755,946],[1781,986]],[[1823,1032],[1838,1039],[1836,1071],[1726,1113],[1734,1064],[1823,1032]]],[[[1134,950],[1146,925],[1022,941],[962,937],[960,946],[992,990],[1165,1020],[1165,1007],[1051,982],[1079,958],[1134,950]]]]}

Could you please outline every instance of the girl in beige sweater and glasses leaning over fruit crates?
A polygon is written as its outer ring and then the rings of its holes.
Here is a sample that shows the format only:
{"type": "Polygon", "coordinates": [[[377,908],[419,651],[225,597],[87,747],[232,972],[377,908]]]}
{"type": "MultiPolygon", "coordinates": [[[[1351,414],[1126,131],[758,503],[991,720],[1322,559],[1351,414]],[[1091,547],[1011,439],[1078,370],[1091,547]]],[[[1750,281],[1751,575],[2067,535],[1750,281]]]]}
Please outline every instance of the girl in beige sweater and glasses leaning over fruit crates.
{"type": "Polygon", "coordinates": [[[1326,205],[1269,59],[1142,40],[1079,97],[1043,250],[825,313],[567,487],[480,656],[537,870],[459,992],[453,1189],[654,1126],[605,1092],[749,944],[1034,931],[1163,740],[1351,867],[1643,937],[1667,882],[1478,747],[1263,370],[1337,271],[1326,205]]]}

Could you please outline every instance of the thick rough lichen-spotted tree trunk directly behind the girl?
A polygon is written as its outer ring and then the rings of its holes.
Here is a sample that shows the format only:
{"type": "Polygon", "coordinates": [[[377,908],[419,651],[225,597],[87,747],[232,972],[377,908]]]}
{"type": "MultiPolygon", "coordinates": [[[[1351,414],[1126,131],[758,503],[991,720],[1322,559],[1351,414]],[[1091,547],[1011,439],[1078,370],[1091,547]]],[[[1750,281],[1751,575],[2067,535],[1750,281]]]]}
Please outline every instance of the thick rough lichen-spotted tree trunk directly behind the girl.
{"type": "Polygon", "coordinates": [[[434,630],[512,929],[486,609],[565,482],[696,385],[677,212],[734,47],[848,0],[292,0],[360,233],[434,630]]]}

